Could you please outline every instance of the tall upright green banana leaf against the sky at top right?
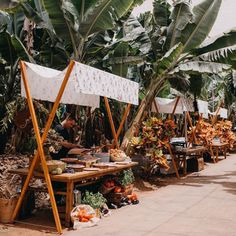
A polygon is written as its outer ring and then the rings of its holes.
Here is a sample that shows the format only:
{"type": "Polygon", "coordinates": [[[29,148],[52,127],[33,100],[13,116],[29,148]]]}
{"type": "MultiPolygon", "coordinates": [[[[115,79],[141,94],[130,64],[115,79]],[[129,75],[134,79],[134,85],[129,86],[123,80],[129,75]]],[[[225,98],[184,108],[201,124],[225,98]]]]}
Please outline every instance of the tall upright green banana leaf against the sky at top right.
{"type": "Polygon", "coordinates": [[[222,0],[205,0],[193,8],[194,21],[182,31],[184,52],[199,46],[215,23],[222,0]]]}

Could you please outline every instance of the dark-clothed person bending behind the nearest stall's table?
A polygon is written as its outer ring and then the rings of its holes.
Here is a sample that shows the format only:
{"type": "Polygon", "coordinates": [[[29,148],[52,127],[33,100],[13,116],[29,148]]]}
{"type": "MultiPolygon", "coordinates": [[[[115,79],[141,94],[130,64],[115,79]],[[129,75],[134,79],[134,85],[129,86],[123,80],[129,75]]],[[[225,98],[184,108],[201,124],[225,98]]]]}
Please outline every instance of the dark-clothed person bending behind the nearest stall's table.
{"type": "Polygon", "coordinates": [[[69,130],[73,128],[73,126],[75,126],[75,118],[67,115],[66,118],[61,122],[61,124],[58,124],[54,128],[55,131],[64,138],[64,141],[61,143],[62,148],[60,149],[60,151],[58,153],[51,154],[53,159],[59,160],[61,158],[64,158],[67,156],[70,149],[79,147],[79,145],[69,142],[69,130]]]}

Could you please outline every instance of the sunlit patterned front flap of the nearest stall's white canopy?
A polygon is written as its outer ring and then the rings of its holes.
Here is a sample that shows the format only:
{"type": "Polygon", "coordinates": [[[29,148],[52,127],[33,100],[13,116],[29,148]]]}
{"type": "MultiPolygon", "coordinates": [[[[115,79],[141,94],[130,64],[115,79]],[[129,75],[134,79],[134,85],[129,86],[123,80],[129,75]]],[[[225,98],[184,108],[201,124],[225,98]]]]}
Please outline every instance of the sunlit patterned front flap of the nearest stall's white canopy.
{"type": "Polygon", "coordinates": [[[74,71],[77,91],[138,105],[138,83],[78,62],[74,71]]]}

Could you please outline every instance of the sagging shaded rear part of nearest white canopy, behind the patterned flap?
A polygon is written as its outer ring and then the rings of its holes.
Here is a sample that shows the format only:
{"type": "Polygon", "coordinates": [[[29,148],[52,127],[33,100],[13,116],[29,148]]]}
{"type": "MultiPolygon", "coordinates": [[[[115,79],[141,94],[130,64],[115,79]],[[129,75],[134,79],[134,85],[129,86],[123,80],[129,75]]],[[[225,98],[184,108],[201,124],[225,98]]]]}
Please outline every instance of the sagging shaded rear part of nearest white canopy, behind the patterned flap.
{"type": "MultiPolygon", "coordinates": [[[[59,71],[51,68],[25,63],[27,81],[31,96],[38,100],[55,102],[66,70],[59,71]]],[[[76,80],[74,71],[68,80],[61,103],[76,104],[81,106],[99,107],[100,97],[79,93],[75,87],[76,80]]],[[[21,80],[21,95],[26,97],[23,80],[21,80]]]]}

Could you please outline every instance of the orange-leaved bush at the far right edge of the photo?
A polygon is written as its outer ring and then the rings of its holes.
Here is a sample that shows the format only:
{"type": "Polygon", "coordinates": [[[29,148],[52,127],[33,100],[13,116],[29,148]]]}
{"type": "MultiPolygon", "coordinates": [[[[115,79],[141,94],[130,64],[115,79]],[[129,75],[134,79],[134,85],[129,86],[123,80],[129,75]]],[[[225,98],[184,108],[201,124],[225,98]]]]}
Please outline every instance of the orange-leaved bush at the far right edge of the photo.
{"type": "Polygon", "coordinates": [[[236,136],[232,131],[232,122],[229,120],[218,121],[215,124],[215,129],[220,141],[228,143],[230,148],[233,148],[236,136]]]}

